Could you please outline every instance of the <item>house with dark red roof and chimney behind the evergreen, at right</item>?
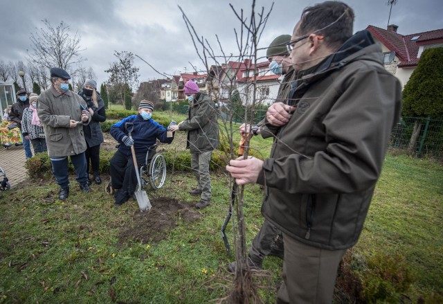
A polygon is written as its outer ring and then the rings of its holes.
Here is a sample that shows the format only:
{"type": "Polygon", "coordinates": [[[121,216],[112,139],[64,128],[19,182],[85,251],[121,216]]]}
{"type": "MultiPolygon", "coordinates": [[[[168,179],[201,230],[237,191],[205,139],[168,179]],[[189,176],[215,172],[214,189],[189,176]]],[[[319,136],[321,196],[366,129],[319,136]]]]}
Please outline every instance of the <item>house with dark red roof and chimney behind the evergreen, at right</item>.
{"type": "Polygon", "coordinates": [[[386,30],[376,26],[366,29],[381,44],[386,69],[399,78],[403,87],[417,67],[423,51],[443,46],[443,28],[409,35],[397,33],[398,26],[394,24],[386,30]]]}

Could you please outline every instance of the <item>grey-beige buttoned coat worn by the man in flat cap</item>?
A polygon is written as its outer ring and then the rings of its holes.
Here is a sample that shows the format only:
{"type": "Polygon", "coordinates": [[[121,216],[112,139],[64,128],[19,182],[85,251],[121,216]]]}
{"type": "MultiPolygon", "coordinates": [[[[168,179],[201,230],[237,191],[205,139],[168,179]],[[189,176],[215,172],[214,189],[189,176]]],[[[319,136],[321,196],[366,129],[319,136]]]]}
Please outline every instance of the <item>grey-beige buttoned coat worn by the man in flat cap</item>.
{"type": "Polygon", "coordinates": [[[83,125],[88,125],[91,115],[88,112],[86,123],[69,127],[69,120],[81,120],[82,108],[87,107],[83,98],[66,91],[57,92],[54,87],[40,94],[37,102],[37,114],[44,126],[49,157],[66,157],[84,152],[87,148],[84,140],[83,125]]]}

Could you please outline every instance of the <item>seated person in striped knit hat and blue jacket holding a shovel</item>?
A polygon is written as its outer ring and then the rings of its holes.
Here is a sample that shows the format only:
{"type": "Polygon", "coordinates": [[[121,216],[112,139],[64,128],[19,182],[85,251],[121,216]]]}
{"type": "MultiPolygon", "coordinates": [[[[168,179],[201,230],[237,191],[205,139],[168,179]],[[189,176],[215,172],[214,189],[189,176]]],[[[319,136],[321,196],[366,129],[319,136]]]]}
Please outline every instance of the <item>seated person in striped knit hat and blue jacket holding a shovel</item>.
{"type": "Polygon", "coordinates": [[[154,104],[150,100],[141,100],[137,115],[123,118],[111,126],[111,136],[120,143],[109,161],[111,186],[116,190],[114,199],[118,206],[132,197],[136,190],[137,177],[131,146],[134,145],[137,163],[143,164],[149,148],[156,144],[157,139],[161,143],[172,143],[174,139],[174,132],[168,137],[168,130],[152,119],[153,110],[154,104]],[[132,130],[127,129],[127,123],[132,124],[132,130]]]}

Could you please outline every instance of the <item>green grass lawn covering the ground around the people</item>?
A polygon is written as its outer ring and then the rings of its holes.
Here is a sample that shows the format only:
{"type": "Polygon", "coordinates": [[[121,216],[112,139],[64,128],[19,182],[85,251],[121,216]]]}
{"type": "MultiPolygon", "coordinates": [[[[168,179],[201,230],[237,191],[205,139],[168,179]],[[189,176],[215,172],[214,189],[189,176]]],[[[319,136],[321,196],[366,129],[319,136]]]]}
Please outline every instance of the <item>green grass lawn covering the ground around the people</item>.
{"type": "MultiPolygon", "coordinates": [[[[163,147],[184,143],[186,133],[176,136],[163,147]]],[[[253,139],[265,157],[271,143],[253,139]]],[[[108,177],[103,179],[105,184],[108,177]]],[[[57,199],[52,179],[30,179],[0,193],[0,303],[208,303],[225,296],[233,279],[225,266],[233,258],[226,255],[220,228],[230,186],[223,171],[213,172],[212,182],[212,204],[196,211],[192,206],[197,198],[188,194],[194,177],[168,172],[163,188],[147,190],[154,207],[145,215],[133,199],[114,206],[103,185],[82,193],[74,177],[66,202],[57,199]],[[142,217],[163,216],[154,211],[165,197],[185,206],[168,215],[173,225],[163,232],[141,224],[142,217]],[[198,217],[189,220],[187,213],[198,217]],[[131,238],[128,231],[145,238],[131,238]],[[152,235],[161,238],[151,240],[152,235]]],[[[408,292],[413,300],[443,293],[442,184],[442,163],[388,154],[354,248],[363,257],[404,256],[414,278],[408,292]]],[[[248,244],[263,221],[262,196],[259,186],[245,187],[248,244]]],[[[231,224],[226,233],[233,248],[231,224]]],[[[275,303],[281,266],[278,258],[265,259],[269,277],[262,282],[268,287],[260,289],[264,303],[275,303]]]]}

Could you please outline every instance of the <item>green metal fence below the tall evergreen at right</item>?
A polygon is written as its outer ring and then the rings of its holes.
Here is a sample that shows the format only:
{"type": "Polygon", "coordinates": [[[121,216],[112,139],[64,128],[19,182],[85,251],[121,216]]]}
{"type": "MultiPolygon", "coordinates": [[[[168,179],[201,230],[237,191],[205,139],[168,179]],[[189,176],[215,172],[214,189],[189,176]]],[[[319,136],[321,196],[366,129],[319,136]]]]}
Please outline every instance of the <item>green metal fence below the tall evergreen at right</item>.
{"type": "Polygon", "coordinates": [[[390,136],[390,147],[415,157],[443,159],[443,120],[402,117],[390,136]]]}

